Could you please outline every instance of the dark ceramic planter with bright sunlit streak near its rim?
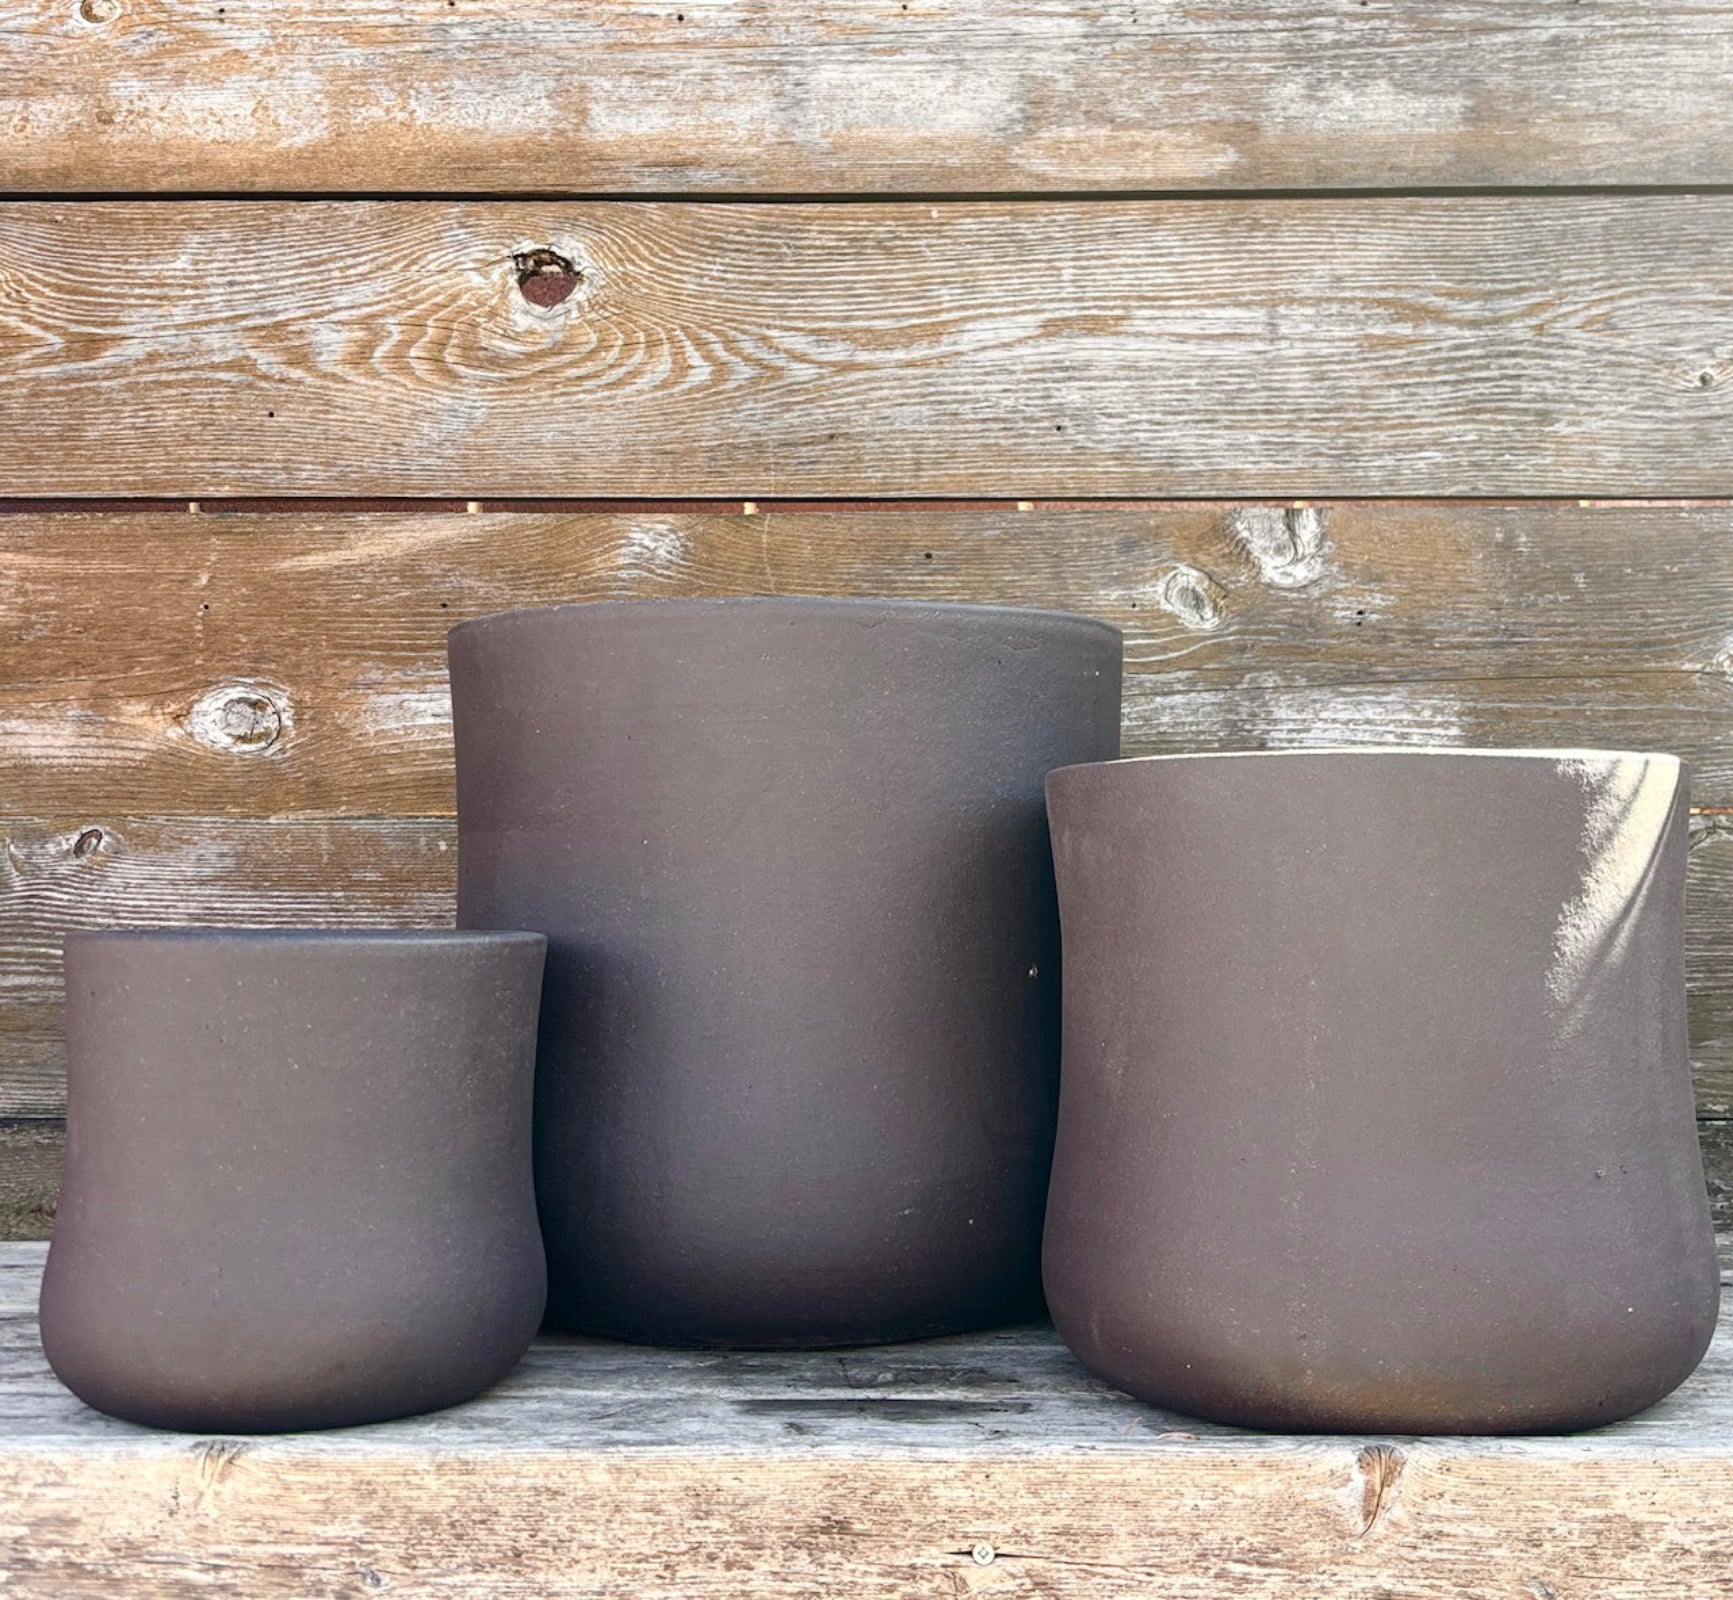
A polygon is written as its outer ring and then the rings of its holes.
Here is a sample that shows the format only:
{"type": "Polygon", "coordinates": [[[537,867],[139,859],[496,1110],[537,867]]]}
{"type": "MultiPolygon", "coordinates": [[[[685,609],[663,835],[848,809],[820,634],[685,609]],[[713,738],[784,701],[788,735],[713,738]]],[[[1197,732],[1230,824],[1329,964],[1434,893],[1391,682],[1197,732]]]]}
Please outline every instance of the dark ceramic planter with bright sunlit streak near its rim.
{"type": "Polygon", "coordinates": [[[1048,780],[1059,1331],[1262,1428],[1658,1401],[1717,1272],[1672,756],[1327,751],[1048,780]]]}

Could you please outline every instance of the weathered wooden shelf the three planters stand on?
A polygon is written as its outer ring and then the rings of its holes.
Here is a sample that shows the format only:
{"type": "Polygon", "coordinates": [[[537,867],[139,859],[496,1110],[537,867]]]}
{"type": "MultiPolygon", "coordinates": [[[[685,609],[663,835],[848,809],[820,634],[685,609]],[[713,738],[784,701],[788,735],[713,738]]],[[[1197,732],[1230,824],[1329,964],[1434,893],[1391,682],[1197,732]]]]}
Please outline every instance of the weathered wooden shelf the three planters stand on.
{"type": "Polygon", "coordinates": [[[1218,1428],[1014,1328],[821,1354],[541,1340],[435,1416],[203,1439],[55,1383],[43,1255],[0,1246],[9,1597],[1733,1590],[1733,1311],[1678,1394],[1575,1437],[1218,1428]]]}

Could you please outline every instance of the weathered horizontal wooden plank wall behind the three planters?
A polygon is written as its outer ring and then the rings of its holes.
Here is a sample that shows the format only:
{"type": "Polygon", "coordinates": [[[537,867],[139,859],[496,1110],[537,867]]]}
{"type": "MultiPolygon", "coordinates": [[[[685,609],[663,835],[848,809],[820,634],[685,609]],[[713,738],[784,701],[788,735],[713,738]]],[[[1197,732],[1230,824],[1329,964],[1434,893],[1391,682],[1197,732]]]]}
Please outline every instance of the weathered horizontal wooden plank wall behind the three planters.
{"type": "Polygon", "coordinates": [[[1064,605],[1130,752],[1695,768],[1733,1222],[1733,12],[24,0],[0,1234],[57,940],[452,912],[445,628],[1064,605]]]}

